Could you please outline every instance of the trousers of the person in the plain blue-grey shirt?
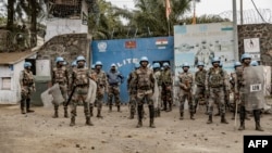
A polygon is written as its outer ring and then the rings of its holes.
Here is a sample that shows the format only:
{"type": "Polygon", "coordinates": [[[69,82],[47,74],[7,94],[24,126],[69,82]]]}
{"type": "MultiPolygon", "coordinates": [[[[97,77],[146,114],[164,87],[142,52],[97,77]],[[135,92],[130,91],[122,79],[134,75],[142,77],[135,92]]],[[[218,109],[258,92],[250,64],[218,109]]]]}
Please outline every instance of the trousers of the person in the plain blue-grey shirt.
{"type": "Polygon", "coordinates": [[[113,98],[116,106],[120,106],[120,89],[119,86],[109,86],[108,104],[111,106],[113,98]]]}

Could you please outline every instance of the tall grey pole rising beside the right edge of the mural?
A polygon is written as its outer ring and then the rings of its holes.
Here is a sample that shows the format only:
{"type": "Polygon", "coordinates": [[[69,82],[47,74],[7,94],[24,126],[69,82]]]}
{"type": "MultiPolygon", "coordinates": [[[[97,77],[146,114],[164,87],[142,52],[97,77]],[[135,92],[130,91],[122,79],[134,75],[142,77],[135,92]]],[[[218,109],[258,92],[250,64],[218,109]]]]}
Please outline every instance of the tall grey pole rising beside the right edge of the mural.
{"type": "Polygon", "coordinates": [[[233,40],[234,59],[235,61],[239,61],[236,0],[233,0],[233,40]]]}

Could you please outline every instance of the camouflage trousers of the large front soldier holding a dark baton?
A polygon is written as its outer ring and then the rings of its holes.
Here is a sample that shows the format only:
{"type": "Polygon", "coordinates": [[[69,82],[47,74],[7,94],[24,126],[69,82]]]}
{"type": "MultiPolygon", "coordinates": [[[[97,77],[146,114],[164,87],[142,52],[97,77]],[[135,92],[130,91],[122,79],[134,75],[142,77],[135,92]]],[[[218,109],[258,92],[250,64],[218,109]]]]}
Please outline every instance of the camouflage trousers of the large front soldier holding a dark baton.
{"type": "Polygon", "coordinates": [[[72,97],[71,101],[71,117],[75,117],[76,114],[76,107],[79,103],[79,101],[83,102],[84,105],[84,114],[86,117],[90,117],[90,112],[89,112],[89,103],[86,102],[86,98],[88,94],[88,88],[89,87],[76,87],[75,92],[72,97]]]}

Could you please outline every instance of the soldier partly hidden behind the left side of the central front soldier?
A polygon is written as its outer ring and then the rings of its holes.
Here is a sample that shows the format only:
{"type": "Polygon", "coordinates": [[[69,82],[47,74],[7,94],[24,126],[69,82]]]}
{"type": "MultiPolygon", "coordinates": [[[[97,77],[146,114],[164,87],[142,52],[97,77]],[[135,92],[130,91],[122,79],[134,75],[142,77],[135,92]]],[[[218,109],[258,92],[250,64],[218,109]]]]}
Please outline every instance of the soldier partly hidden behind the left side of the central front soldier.
{"type": "Polygon", "coordinates": [[[134,65],[134,71],[132,71],[127,77],[127,91],[128,91],[128,94],[129,94],[129,104],[131,104],[131,109],[129,109],[129,112],[131,112],[131,116],[129,116],[129,119],[133,119],[134,118],[134,114],[136,112],[136,95],[137,95],[137,92],[136,92],[136,88],[133,86],[133,80],[135,79],[135,75],[136,75],[136,69],[139,68],[139,64],[136,63],[134,65]]]}

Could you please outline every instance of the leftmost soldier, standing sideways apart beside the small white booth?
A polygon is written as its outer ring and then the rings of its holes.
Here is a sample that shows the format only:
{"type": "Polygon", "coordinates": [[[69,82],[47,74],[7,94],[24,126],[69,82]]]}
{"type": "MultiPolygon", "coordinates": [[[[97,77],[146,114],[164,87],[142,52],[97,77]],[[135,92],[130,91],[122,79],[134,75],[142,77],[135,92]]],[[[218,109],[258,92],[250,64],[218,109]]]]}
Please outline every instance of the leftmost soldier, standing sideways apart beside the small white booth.
{"type": "Polygon", "coordinates": [[[21,113],[25,114],[25,102],[26,102],[26,113],[33,113],[30,110],[30,95],[36,91],[34,76],[32,73],[32,63],[24,63],[24,71],[20,74],[20,85],[21,85],[21,113]]]}

